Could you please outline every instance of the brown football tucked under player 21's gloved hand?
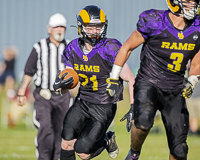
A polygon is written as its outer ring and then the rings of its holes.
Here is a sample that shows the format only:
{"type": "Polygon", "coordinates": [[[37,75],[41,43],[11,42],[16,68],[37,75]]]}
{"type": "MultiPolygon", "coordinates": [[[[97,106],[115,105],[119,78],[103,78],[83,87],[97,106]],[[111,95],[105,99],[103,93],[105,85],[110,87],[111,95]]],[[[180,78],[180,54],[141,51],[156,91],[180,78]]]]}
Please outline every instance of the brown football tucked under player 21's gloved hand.
{"type": "Polygon", "coordinates": [[[76,85],[79,82],[79,76],[78,76],[78,74],[75,70],[73,70],[71,68],[66,68],[60,73],[59,77],[61,78],[62,75],[65,74],[65,73],[68,73],[68,74],[65,76],[64,79],[67,79],[69,77],[73,77],[73,79],[74,79],[73,85],[70,86],[70,87],[67,87],[66,89],[73,89],[74,87],[76,87],[76,85]]]}

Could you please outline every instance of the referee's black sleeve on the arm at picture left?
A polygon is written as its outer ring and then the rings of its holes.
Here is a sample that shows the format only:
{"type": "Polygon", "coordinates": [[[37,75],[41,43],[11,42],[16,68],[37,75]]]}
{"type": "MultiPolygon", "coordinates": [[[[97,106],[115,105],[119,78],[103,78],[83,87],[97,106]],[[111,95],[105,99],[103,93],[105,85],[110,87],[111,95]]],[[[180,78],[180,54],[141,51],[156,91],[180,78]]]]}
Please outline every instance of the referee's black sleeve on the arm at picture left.
{"type": "Polygon", "coordinates": [[[29,55],[29,58],[26,62],[24,74],[32,77],[36,73],[36,71],[37,71],[37,59],[38,59],[38,54],[36,52],[36,49],[33,48],[32,51],[31,51],[31,54],[29,55]]]}

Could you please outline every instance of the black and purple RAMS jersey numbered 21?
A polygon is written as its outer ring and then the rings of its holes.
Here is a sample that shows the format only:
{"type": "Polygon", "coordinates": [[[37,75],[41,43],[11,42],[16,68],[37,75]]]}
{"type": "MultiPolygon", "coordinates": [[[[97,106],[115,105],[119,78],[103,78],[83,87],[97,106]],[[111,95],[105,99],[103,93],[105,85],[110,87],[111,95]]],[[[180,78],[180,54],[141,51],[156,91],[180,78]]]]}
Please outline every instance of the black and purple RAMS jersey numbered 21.
{"type": "Polygon", "coordinates": [[[73,67],[79,75],[81,82],[79,97],[94,104],[107,104],[122,100],[122,79],[119,81],[119,97],[110,97],[106,91],[106,79],[109,77],[121,43],[116,39],[102,39],[88,54],[84,54],[78,44],[79,40],[77,38],[71,41],[63,52],[65,65],[73,67]]]}

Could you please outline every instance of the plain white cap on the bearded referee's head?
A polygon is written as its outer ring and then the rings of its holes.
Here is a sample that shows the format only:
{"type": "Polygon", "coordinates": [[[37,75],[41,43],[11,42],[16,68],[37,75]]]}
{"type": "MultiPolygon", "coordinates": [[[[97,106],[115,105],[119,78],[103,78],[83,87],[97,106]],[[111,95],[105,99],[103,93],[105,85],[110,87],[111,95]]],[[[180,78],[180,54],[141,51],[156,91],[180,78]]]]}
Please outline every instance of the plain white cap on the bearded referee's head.
{"type": "Polygon", "coordinates": [[[56,13],[49,18],[49,26],[50,27],[62,26],[66,28],[67,20],[62,14],[56,13]]]}

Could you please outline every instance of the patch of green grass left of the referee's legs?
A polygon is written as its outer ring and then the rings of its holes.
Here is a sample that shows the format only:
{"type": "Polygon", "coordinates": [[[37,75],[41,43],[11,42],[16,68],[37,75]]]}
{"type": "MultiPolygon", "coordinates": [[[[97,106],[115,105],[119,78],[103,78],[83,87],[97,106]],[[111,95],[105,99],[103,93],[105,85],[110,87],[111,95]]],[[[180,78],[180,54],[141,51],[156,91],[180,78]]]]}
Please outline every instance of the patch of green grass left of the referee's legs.
{"type": "Polygon", "coordinates": [[[0,131],[1,160],[34,160],[35,130],[6,129],[0,131]]]}

